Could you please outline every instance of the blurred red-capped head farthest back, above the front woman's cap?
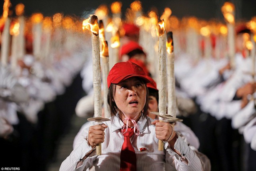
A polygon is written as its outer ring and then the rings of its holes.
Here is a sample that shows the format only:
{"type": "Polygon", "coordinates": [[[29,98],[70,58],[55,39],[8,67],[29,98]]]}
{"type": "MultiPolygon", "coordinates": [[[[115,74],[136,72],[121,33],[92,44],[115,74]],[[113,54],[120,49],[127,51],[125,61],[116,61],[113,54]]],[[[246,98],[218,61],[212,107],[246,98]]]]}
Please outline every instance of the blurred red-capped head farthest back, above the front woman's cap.
{"type": "Polygon", "coordinates": [[[140,28],[133,23],[124,23],[122,26],[124,31],[121,37],[121,43],[126,44],[130,41],[138,42],[140,38],[140,28]]]}

